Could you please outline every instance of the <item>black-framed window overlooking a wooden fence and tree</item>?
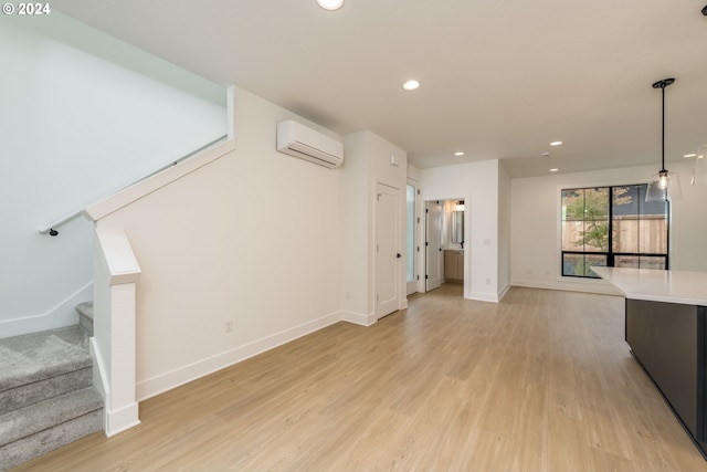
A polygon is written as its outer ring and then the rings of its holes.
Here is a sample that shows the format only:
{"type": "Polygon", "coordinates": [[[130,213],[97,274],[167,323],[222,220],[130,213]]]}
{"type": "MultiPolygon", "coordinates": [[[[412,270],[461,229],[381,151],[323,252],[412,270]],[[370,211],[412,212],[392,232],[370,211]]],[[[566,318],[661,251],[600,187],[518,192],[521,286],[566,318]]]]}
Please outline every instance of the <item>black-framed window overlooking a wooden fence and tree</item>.
{"type": "Polygon", "coordinates": [[[668,203],[646,183],[562,190],[562,275],[598,279],[592,265],[668,268],[668,203]]]}

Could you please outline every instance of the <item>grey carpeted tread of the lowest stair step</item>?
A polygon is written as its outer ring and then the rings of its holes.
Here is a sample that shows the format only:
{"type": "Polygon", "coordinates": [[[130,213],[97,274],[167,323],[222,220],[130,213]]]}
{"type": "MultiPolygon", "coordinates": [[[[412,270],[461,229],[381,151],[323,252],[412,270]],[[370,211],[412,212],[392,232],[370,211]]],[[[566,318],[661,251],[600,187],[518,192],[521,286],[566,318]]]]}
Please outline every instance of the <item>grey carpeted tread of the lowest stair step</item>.
{"type": "Polygon", "coordinates": [[[0,417],[0,448],[103,408],[94,387],[54,397],[0,417]]]}

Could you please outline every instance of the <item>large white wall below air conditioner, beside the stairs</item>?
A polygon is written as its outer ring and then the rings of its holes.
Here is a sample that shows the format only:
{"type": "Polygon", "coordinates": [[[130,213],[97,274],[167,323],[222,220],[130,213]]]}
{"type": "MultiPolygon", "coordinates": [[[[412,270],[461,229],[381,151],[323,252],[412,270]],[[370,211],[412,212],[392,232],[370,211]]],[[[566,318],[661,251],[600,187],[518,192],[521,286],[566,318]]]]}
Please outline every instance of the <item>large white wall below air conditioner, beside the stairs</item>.
{"type": "Polygon", "coordinates": [[[143,270],[138,399],[339,319],[342,170],[277,153],[289,118],[236,88],[235,151],[99,221],[143,270]]]}

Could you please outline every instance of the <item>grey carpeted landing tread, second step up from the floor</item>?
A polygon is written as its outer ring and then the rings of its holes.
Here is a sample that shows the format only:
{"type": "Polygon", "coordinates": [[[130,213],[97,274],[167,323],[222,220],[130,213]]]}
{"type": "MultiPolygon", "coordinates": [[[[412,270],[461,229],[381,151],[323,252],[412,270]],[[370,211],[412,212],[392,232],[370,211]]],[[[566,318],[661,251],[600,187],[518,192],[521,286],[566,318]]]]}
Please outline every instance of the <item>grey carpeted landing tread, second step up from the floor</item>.
{"type": "Polygon", "coordinates": [[[78,326],[0,339],[0,391],[91,367],[78,326]]]}

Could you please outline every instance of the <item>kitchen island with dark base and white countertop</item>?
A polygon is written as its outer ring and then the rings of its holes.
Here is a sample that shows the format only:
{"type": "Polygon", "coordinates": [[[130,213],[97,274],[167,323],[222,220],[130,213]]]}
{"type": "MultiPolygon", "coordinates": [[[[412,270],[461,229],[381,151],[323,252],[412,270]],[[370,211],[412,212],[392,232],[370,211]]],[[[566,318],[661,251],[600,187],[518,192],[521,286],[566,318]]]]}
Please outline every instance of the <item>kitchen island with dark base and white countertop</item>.
{"type": "Polygon", "coordinates": [[[625,296],[625,339],[707,459],[707,272],[592,268],[625,296]]]}

